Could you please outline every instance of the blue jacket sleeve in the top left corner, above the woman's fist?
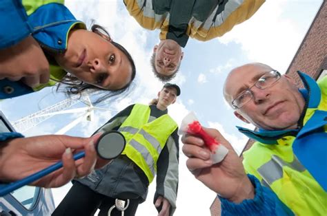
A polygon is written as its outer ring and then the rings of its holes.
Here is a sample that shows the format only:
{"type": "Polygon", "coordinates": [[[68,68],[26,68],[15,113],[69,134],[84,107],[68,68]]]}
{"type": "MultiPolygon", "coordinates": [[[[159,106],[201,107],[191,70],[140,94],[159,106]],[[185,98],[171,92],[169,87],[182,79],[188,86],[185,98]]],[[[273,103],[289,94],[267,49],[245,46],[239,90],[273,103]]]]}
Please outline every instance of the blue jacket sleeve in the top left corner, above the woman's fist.
{"type": "Polygon", "coordinates": [[[15,45],[32,33],[21,0],[1,0],[0,16],[0,49],[15,45]]]}

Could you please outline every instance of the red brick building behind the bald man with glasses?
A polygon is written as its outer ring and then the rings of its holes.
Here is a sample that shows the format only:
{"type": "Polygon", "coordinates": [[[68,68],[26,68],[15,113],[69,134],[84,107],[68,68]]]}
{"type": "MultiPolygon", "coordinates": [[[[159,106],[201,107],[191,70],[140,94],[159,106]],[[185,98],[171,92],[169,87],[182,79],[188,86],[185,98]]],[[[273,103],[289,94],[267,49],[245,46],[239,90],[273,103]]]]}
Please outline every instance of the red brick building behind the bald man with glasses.
{"type": "MultiPolygon", "coordinates": [[[[309,74],[316,80],[327,74],[327,1],[321,4],[313,23],[286,71],[286,74],[297,81],[299,87],[303,87],[297,70],[309,74]]],[[[252,144],[253,140],[248,140],[243,151],[250,149],[252,144]]],[[[216,198],[210,206],[210,213],[212,216],[220,215],[219,199],[216,198]]]]}

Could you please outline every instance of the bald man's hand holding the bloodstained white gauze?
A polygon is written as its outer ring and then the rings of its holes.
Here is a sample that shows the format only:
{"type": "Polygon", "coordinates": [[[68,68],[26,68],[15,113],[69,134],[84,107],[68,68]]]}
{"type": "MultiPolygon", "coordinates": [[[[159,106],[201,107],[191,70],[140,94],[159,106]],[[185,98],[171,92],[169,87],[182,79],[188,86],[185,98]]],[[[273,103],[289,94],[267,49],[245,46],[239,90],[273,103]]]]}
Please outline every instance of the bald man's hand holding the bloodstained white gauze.
{"type": "Polygon", "coordinates": [[[210,150],[201,138],[183,136],[183,153],[188,157],[186,166],[193,175],[212,191],[232,202],[242,202],[253,199],[254,188],[244,171],[241,159],[235,153],[230,143],[215,129],[204,130],[229,150],[226,158],[218,164],[210,160],[210,150]]]}

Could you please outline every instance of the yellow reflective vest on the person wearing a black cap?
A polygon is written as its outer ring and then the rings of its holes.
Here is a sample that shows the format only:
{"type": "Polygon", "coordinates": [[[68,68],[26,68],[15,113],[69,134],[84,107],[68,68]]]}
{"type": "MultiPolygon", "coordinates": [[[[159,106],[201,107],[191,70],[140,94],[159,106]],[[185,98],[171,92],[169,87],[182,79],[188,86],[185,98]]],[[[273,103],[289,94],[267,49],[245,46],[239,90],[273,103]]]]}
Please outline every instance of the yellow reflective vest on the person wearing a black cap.
{"type": "Polygon", "coordinates": [[[126,138],[126,148],[122,154],[135,162],[151,183],[157,173],[157,160],[161,150],[172,132],[177,129],[177,124],[168,114],[151,122],[149,118],[150,107],[136,104],[119,131],[126,138]]]}

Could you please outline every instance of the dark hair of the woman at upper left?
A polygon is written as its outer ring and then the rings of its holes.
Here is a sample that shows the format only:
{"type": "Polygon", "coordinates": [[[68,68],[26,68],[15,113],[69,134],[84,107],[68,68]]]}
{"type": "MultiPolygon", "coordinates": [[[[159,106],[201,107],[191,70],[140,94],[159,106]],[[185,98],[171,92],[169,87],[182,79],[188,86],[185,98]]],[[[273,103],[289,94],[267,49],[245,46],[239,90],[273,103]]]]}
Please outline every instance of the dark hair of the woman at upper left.
{"type": "MultiPolygon", "coordinates": [[[[108,41],[110,40],[110,34],[100,25],[92,25],[91,31],[103,36],[103,38],[108,39],[108,41]]],[[[130,84],[132,83],[132,80],[134,80],[135,74],[136,74],[135,63],[132,59],[132,56],[130,56],[128,51],[122,45],[120,45],[119,43],[116,43],[114,41],[110,41],[110,43],[112,43],[112,45],[115,45],[115,47],[117,47],[121,52],[123,52],[123,54],[126,55],[126,57],[128,58],[128,61],[130,62],[130,65],[132,67],[132,76],[130,78],[130,82],[127,85],[125,85],[121,89],[116,89],[116,90],[101,89],[94,85],[84,83],[83,81],[79,80],[79,78],[76,78],[75,76],[72,76],[71,74],[68,73],[61,80],[56,80],[59,83],[59,85],[57,85],[57,91],[59,90],[59,87],[62,84],[65,85],[64,86],[64,88],[66,89],[65,92],[68,96],[75,95],[75,94],[81,95],[81,93],[86,90],[92,91],[92,92],[95,92],[95,91],[108,92],[108,91],[110,91],[109,94],[103,94],[103,96],[101,96],[101,98],[97,98],[95,103],[98,103],[98,102],[101,102],[102,100],[106,100],[107,98],[110,98],[112,96],[117,96],[117,95],[123,93],[124,91],[126,91],[127,89],[129,89],[130,84]]]]}

